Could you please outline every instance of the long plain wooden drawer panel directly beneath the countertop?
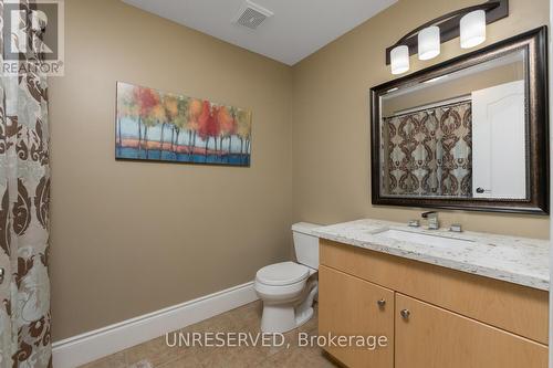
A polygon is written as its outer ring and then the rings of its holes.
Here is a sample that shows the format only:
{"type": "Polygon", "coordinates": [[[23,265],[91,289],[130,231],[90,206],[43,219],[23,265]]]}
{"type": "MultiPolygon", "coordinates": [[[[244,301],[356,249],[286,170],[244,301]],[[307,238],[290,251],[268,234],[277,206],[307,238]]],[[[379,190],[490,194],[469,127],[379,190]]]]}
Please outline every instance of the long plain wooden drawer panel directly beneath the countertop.
{"type": "Polygon", "coordinates": [[[544,291],[327,240],[320,243],[323,265],[547,344],[544,291]]]}

